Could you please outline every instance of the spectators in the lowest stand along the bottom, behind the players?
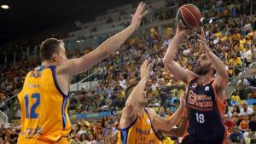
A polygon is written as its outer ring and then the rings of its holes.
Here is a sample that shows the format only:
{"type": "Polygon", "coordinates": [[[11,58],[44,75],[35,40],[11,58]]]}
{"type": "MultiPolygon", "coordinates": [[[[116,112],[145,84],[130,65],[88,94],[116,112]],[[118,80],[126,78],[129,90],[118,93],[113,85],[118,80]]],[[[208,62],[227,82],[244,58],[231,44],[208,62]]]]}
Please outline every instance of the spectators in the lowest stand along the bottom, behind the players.
{"type": "MultiPolygon", "coordinates": [[[[159,115],[163,118],[172,116],[172,109],[164,110],[160,107],[159,115]]],[[[120,115],[111,115],[102,118],[77,119],[73,124],[73,130],[67,135],[69,144],[116,144],[119,132],[117,124],[120,115]]],[[[234,105],[226,109],[224,113],[224,126],[229,135],[230,143],[255,143],[256,141],[256,104],[248,107],[243,102],[241,107],[234,105]]],[[[15,144],[20,132],[20,124],[1,124],[0,144],[15,144]]],[[[178,144],[182,138],[165,136],[163,143],[178,144]]]]}

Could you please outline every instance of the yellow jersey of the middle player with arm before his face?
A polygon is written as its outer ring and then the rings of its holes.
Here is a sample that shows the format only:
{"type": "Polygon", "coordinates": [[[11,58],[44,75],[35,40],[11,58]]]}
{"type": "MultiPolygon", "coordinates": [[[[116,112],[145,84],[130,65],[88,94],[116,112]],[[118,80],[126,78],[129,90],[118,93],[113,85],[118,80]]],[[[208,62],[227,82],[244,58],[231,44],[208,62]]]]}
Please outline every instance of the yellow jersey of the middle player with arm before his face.
{"type": "Polygon", "coordinates": [[[148,112],[141,115],[137,112],[136,120],[126,129],[119,130],[118,144],[159,144],[160,139],[157,137],[156,131],[151,124],[148,112]]]}

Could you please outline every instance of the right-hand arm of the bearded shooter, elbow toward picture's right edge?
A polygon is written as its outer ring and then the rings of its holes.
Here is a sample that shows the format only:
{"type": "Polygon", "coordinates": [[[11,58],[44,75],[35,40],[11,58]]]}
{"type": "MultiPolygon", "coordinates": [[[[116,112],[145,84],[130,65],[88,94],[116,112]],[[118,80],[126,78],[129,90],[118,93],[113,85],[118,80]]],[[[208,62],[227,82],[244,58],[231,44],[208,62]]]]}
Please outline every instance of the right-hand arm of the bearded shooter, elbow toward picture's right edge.
{"type": "Polygon", "coordinates": [[[201,47],[205,51],[207,58],[211,60],[213,68],[218,73],[217,78],[215,78],[213,82],[213,87],[216,89],[216,92],[218,93],[218,98],[220,98],[221,101],[224,101],[226,98],[224,94],[224,89],[229,83],[229,74],[225,69],[224,63],[221,60],[219,60],[218,56],[214,55],[212,53],[212,50],[208,47],[207,42],[205,40],[206,38],[203,27],[201,28],[201,32],[201,36],[198,35],[198,42],[201,43],[201,47]]]}

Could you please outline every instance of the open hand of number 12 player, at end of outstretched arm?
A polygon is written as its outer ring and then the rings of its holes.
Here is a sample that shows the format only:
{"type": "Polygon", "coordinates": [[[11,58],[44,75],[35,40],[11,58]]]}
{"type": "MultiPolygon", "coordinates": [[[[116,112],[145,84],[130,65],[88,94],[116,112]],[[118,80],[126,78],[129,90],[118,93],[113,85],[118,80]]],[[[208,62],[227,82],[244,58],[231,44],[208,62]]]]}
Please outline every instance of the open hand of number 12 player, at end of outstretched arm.
{"type": "Polygon", "coordinates": [[[135,26],[136,28],[140,26],[141,21],[143,20],[143,16],[148,13],[148,10],[145,11],[146,4],[141,2],[136,9],[135,14],[132,14],[131,26],[135,26]]]}

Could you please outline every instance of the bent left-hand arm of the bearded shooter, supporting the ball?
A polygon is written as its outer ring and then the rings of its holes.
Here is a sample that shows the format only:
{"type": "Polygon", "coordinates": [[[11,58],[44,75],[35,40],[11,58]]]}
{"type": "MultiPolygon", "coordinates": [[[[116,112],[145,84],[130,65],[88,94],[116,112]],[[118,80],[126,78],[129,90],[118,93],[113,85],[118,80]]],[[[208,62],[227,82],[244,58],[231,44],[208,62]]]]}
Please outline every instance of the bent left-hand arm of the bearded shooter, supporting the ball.
{"type": "Polygon", "coordinates": [[[166,51],[166,55],[164,57],[164,64],[166,66],[166,69],[172,73],[172,75],[177,78],[178,80],[183,81],[185,84],[188,83],[189,79],[194,76],[193,72],[190,72],[189,70],[185,70],[182,66],[177,64],[176,61],[174,61],[174,57],[177,53],[177,47],[179,43],[181,43],[183,37],[192,30],[186,30],[181,29],[179,26],[177,26],[177,31],[175,36],[172,38],[171,43],[168,46],[168,49],[166,51]]]}

